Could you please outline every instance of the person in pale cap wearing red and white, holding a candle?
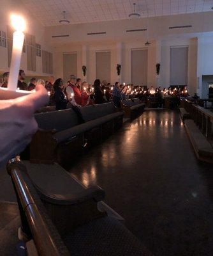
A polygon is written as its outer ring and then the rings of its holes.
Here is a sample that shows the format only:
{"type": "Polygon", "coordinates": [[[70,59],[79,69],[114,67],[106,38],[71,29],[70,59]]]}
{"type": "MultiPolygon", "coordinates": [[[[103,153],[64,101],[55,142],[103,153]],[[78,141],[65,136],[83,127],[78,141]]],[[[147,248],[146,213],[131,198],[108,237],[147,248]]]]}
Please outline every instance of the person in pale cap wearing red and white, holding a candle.
{"type": "Polygon", "coordinates": [[[68,86],[66,87],[66,97],[71,100],[73,106],[82,106],[82,94],[76,85],[76,77],[74,75],[70,76],[68,81],[68,86]]]}

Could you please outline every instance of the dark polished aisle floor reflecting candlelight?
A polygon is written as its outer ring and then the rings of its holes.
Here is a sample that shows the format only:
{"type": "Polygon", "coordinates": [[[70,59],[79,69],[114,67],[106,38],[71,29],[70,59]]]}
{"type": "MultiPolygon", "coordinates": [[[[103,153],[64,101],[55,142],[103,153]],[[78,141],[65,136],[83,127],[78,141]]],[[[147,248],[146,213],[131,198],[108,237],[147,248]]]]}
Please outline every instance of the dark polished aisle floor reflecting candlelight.
{"type": "Polygon", "coordinates": [[[176,111],[146,111],[70,170],[154,255],[212,255],[213,173],[199,163],[176,111]]]}

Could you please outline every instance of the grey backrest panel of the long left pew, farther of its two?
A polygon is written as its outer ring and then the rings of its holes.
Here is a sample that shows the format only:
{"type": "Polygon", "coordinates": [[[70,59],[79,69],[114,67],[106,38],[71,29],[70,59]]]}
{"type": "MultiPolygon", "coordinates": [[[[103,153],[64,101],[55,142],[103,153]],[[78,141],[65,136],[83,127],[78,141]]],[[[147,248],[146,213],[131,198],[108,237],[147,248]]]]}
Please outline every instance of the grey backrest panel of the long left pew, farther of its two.
{"type": "Polygon", "coordinates": [[[80,108],[80,113],[84,122],[89,122],[99,117],[115,113],[115,107],[112,102],[108,102],[103,104],[97,104],[94,106],[85,106],[83,108],[80,108]]]}

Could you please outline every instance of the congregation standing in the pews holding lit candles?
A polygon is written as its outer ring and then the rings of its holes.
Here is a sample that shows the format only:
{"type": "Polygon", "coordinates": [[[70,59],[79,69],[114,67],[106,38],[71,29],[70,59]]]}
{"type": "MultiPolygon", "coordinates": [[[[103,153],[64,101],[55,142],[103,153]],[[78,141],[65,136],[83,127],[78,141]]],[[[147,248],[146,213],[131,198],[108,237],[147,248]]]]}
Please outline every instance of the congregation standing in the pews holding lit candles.
{"type": "MultiPolygon", "coordinates": [[[[8,84],[10,72],[5,72],[0,79],[0,86],[6,88],[8,84]]],[[[170,86],[169,88],[154,88],[151,86],[135,86],[134,84],[125,84],[115,82],[114,85],[107,81],[96,79],[94,84],[89,84],[77,78],[75,75],[70,75],[69,81],[64,81],[61,78],[55,79],[54,76],[48,77],[47,81],[32,77],[27,84],[25,82],[26,74],[24,70],[19,71],[18,75],[18,90],[34,90],[36,83],[43,84],[47,89],[50,97],[48,106],[55,106],[56,110],[74,107],[83,107],[92,104],[103,104],[112,101],[117,108],[121,107],[121,101],[126,99],[139,98],[142,101],[147,99],[157,99],[158,107],[164,105],[165,97],[180,99],[187,97],[187,86],[170,86]],[[152,98],[153,97],[153,98],[152,98]]]]}

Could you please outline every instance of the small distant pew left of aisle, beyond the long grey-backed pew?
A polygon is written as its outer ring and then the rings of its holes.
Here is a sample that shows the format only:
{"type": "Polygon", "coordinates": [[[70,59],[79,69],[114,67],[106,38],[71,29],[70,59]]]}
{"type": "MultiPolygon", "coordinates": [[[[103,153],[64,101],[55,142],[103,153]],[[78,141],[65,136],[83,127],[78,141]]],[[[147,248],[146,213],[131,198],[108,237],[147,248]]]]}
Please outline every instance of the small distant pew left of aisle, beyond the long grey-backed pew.
{"type": "Polygon", "coordinates": [[[121,108],[125,112],[125,117],[133,119],[143,113],[145,104],[142,103],[138,98],[122,100],[121,108]]]}

